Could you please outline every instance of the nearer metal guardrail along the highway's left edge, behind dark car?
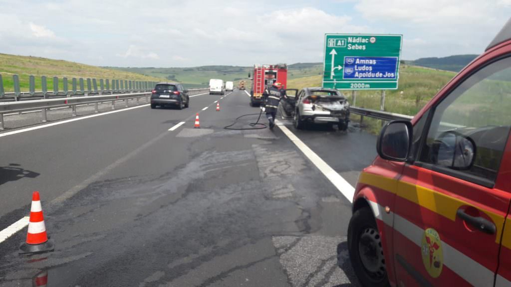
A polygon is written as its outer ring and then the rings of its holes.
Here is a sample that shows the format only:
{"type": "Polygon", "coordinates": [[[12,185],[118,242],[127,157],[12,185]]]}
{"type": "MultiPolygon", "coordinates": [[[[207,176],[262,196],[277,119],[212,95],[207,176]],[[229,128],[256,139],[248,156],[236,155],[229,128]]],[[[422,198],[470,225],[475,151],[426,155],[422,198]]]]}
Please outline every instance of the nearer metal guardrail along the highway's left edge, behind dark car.
{"type": "MultiPolygon", "coordinates": [[[[198,94],[204,89],[188,89],[189,95],[198,94]]],[[[73,109],[73,116],[76,116],[77,105],[88,105],[94,104],[94,112],[98,112],[98,104],[104,102],[111,102],[112,110],[115,109],[115,102],[124,101],[125,106],[128,106],[128,100],[135,99],[138,101],[141,98],[146,99],[146,103],[149,103],[150,92],[138,92],[138,93],[121,93],[121,94],[108,94],[108,95],[91,95],[81,97],[67,97],[58,99],[43,99],[43,100],[27,100],[17,102],[4,102],[0,103],[0,131],[4,130],[4,115],[6,113],[17,113],[24,111],[36,111],[40,110],[42,115],[42,122],[47,122],[47,111],[51,108],[59,107],[71,107],[73,109]]]]}

